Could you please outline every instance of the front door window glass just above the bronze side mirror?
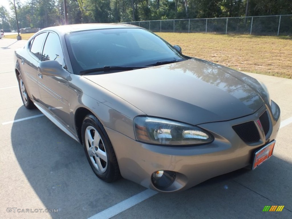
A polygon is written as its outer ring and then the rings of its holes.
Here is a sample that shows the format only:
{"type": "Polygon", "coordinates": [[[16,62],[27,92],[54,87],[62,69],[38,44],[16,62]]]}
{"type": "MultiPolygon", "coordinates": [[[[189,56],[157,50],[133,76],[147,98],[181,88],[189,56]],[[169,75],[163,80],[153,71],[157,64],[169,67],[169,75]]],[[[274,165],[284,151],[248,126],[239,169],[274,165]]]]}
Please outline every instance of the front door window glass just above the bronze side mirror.
{"type": "Polygon", "coordinates": [[[58,35],[49,33],[45,42],[42,60],[56,60],[60,65],[64,65],[63,51],[58,35]]]}

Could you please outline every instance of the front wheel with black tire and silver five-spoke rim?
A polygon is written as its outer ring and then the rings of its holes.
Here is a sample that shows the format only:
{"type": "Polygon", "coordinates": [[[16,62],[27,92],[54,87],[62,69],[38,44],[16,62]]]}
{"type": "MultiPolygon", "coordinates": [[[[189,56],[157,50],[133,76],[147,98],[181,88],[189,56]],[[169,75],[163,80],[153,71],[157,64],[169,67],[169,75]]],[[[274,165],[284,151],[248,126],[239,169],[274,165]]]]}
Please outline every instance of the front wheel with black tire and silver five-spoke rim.
{"type": "Polygon", "coordinates": [[[107,183],[119,179],[121,174],[114,148],[104,127],[93,114],[88,114],[84,118],[81,134],[87,160],[95,175],[107,183]],[[98,135],[96,135],[96,131],[98,135]],[[90,142],[91,139],[92,142],[90,142]],[[96,143],[94,143],[95,141],[96,143]],[[104,161],[105,154],[107,161],[104,161]]]}

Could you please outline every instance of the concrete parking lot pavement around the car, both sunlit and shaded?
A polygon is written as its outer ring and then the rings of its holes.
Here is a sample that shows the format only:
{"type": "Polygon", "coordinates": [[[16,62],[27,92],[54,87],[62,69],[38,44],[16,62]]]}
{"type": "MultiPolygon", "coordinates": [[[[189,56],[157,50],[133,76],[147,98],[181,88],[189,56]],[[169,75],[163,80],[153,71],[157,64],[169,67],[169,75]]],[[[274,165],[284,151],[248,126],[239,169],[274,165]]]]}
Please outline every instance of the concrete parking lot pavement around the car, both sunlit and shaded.
{"type": "Polygon", "coordinates": [[[79,143],[46,117],[31,118],[41,112],[22,105],[12,64],[14,49],[25,42],[0,40],[0,218],[292,218],[291,79],[250,74],[267,85],[281,108],[282,125],[269,161],[184,192],[140,199],[149,190],[124,179],[102,182],[79,143]],[[285,207],[263,212],[266,205],[285,207]],[[46,208],[58,213],[40,212],[46,208]],[[22,209],[29,212],[17,212],[22,209]]]}

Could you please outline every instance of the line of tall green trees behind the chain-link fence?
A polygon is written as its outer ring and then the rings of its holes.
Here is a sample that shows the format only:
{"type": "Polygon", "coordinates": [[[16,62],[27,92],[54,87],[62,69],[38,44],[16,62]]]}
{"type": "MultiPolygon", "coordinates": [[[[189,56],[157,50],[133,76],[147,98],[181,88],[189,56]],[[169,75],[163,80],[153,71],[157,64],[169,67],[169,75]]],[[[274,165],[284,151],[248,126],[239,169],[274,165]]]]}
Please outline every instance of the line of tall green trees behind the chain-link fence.
{"type": "MultiPolygon", "coordinates": [[[[292,14],[292,0],[66,0],[67,23],[292,14]]],[[[63,0],[15,0],[19,28],[63,25],[63,0]]],[[[0,28],[17,29],[13,3],[0,6],[0,28]]]]}

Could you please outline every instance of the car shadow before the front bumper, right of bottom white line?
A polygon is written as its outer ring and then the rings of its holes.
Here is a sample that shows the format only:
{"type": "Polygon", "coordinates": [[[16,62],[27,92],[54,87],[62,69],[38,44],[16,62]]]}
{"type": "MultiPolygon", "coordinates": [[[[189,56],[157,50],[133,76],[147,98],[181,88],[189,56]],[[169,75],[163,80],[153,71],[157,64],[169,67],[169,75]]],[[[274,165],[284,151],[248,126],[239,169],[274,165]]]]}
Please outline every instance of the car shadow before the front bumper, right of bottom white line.
{"type": "Polygon", "coordinates": [[[254,171],[240,169],[183,192],[157,194],[112,219],[131,218],[137,213],[167,219],[291,218],[291,166],[274,156],[254,171]],[[267,205],[285,207],[281,212],[263,212],[267,205]]]}

